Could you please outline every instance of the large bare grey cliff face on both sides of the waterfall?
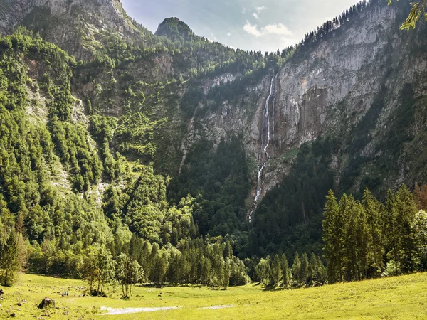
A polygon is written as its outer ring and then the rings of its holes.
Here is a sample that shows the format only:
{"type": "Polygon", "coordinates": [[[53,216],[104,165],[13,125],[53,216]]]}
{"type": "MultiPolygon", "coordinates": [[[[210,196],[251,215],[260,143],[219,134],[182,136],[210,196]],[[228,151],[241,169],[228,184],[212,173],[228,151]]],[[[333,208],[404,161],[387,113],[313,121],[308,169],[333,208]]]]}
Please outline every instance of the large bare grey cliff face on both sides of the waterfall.
{"type": "MultiPolygon", "coordinates": [[[[271,161],[267,161],[263,172],[260,198],[289,171],[289,166],[278,161],[280,157],[317,137],[347,134],[370,110],[377,92],[386,87],[386,107],[367,132],[371,142],[361,151],[364,156],[381,154],[379,146],[387,122],[391,121],[389,117],[401,106],[399,97],[404,84],[413,85],[416,97],[427,92],[426,82],[419,81],[427,75],[426,51],[414,54],[411,50],[416,46],[426,48],[426,23],[407,33],[399,30],[402,18],[396,6],[375,6],[362,11],[352,23],[317,41],[305,55],[290,59],[280,68],[275,81],[277,94],[269,108],[271,141],[267,151],[271,161]]],[[[243,137],[250,162],[259,164],[263,112],[273,75],[248,87],[246,95],[237,102],[223,102],[215,113],[199,119],[199,125],[192,124],[184,138],[186,143],[182,144],[184,154],[199,137],[219,142],[236,134],[243,137]]],[[[205,83],[206,92],[209,86],[217,85],[215,81],[205,83]]],[[[338,171],[347,165],[342,154],[334,164],[338,171]]],[[[252,169],[251,197],[255,198],[258,170],[252,169]]],[[[406,181],[407,174],[406,169],[400,177],[390,176],[386,184],[394,186],[406,181]]]]}

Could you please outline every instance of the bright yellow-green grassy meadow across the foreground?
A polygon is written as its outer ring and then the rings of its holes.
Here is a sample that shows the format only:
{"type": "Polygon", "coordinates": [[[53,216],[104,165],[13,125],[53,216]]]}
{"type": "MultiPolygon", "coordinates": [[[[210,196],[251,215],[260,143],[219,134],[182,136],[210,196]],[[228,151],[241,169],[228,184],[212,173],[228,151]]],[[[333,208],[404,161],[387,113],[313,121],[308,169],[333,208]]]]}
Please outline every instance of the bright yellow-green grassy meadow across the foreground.
{"type": "Polygon", "coordinates": [[[226,291],[206,287],[135,287],[130,300],[120,299],[120,287],[108,298],[83,297],[85,282],[20,274],[4,289],[0,319],[427,319],[427,274],[334,284],[310,289],[263,291],[250,284],[226,291]],[[58,292],[69,292],[61,297],[58,292]],[[159,297],[161,294],[161,297],[159,297]],[[37,309],[43,297],[56,309],[37,309]],[[162,300],[160,300],[160,298],[162,300]],[[26,302],[23,302],[26,301],[26,302]],[[19,306],[18,304],[21,304],[19,306]],[[135,314],[102,315],[102,307],[179,309],[135,314]],[[217,306],[227,306],[215,309],[217,306]],[[210,308],[214,309],[202,309],[210,308]]]}

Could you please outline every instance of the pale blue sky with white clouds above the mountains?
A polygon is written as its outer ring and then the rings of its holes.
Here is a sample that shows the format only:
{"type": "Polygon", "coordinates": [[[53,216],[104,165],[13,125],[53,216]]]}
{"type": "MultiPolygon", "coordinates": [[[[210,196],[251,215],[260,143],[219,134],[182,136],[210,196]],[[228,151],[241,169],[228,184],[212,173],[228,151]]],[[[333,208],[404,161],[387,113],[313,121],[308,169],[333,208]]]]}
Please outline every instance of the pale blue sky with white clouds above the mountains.
{"type": "Polygon", "coordinates": [[[339,16],[357,0],[122,0],[127,14],[153,33],[177,17],[199,36],[231,48],[275,51],[339,16]]]}

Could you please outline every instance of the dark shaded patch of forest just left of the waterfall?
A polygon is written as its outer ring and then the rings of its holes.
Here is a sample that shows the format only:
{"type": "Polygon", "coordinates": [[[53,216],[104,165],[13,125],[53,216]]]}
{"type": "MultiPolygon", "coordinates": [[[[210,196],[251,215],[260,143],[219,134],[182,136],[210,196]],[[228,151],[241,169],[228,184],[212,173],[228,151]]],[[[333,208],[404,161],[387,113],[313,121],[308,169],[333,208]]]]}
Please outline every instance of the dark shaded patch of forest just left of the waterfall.
{"type": "Polygon", "coordinates": [[[238,230],[246,218],[249,193],[248,166],[241,141],[196,143],[186,155],[181,175],[169,186],[169,197],[178,202],[196,198],[194,220],[202,235],[226,235],[238,230]],[[227,164],[227,165],[225,165],[227,164]]]}

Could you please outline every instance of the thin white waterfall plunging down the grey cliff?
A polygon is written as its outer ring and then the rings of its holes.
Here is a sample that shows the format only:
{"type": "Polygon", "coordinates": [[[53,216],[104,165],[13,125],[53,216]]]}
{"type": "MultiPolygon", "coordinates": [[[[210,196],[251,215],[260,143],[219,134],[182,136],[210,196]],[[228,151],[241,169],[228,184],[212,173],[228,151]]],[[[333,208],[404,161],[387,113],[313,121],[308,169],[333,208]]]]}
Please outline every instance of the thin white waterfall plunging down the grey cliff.
{"type": "MultiPolygon", "coordinates": [[[[270,160],[270,155],[268,154],[268,146],[270,146],[270,112],[268,107],[270,106],[270,99],[273,97],[273,127],[274,127],[274,103],[275,103],[275,78],[277,75],[274,75],[270,81],[270,92],[268,94],[267,100],[265,100],[265,107],[263,110],[263,118],[261,120],[261,148],[260,154],[258,156],[258,160],[260,164],[258,166],[258,183],[256,187],[256,196],[255,196],[255,205],[258,203],[261,193],[263,192],[263,171],[265,166],[267,165],[267,161],[270,160]],[[265,137],[266,136],[266,137],[265,137]],[[266,139],[265,139],[266,138],[266,139]]],[[[273,132],[274,137],[274,132],[273,132]]],[[[251,222],[252,214],[255,212],[254,210],[249,213],[248,220],[251,222]]]]}

